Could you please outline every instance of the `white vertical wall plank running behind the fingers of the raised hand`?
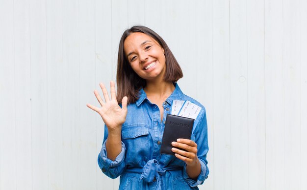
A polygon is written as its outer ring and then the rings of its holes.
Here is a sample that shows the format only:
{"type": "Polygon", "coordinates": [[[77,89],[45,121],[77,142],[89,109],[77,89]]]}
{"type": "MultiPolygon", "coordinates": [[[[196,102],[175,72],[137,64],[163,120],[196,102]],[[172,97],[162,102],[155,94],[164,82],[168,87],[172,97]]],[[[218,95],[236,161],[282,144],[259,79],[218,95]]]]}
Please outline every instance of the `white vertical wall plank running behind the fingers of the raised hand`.
{"type": "MultiPolygon", "coordinates": [[[[92,104],[96,106],[100,106],[95,95],[93,93],[94,89],[97,89],[100,94],[102,93],[99,83],[103,82],[105,85],[108,85],[110,80],[112,79],[112,20],[111,20],[111,0],[95,1],[96,15],[95,15],[95,36],[96,36],[96,81],[95,84],[91,84],[93,87],[91,92],[91,98],[88,101],[91,101],[92,104]]],[[[101,151],[102,141],[103,141],[103,131],[104,131],[104,123],[102,118],[96,112],[88,109],[88,112],[95,115],[96,118],[96,158],[101,151]]],[[[111,190],[113,188],[113,180],[107,177],[102,173],[101,169],[98,166],[96,161],[96,176],[97,176],[97,189],[102,190],[111,190]]],[[[115,188],[116,189],[116,188],[115,188]]]]}

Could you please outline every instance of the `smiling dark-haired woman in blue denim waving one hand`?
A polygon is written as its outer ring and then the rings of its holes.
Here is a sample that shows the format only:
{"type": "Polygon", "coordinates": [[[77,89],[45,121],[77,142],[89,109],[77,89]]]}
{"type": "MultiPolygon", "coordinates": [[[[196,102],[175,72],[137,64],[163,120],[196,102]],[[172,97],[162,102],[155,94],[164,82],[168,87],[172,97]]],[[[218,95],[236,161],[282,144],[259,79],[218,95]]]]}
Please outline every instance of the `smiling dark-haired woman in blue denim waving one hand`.
{"type": "Polygon", "coordinates": [[[207,178],[205,107],[181,92],[176,82],[182,76],[171,50],[153,30],[133,26],[124,32],[118,52],[117,96],[113,82],[111,98],[100,84],[105,102],[95,90],[101,107],[87,105],[105,123],[98,164],[107,176],[121,176],[120,190],[193,190],[207,178]],[[173,100],[201,107],[191,140],[172,143],[175,156],[160,154],[173,100]]]}

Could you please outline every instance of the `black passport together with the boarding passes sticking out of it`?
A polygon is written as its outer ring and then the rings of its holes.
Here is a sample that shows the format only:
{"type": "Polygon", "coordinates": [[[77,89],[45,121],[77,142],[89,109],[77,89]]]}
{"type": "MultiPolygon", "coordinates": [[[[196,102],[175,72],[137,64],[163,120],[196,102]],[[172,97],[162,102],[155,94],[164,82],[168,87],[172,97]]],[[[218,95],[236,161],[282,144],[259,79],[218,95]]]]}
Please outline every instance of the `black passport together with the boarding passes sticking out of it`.
{"type": "Polygon", "coordinates": [[[172,151],[172,142],[177,142],[179,138],[191,139],[194,119],[197,118],[200,111],[201,107],[192,102],[173,101],[172,114],[166,116],[160,153],[175,155],[172,151]]]}

